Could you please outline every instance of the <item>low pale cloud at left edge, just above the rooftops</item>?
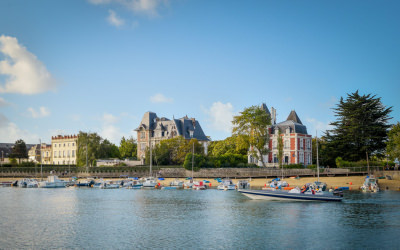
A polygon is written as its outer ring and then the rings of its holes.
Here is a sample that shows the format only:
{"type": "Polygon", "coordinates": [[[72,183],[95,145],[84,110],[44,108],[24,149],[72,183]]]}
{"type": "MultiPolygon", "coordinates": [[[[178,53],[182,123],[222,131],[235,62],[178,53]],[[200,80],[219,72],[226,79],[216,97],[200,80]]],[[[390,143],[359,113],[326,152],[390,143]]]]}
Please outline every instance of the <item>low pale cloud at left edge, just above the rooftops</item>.
{"type": "Polygon", "coordinates": [[[19,139],[25,143],[37,143],[39,136],[26,130],[21,130],[15,123],[10,122],[7,117],[0,113],[0,141],[13,143],[19,139]]]}

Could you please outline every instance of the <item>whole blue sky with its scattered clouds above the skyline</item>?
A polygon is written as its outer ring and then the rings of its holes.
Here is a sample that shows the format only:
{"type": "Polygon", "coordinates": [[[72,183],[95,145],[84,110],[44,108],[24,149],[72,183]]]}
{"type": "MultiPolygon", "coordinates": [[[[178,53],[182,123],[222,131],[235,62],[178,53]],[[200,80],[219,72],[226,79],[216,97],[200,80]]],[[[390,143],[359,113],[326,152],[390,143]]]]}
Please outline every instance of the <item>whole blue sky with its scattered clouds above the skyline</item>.
{"type": "Polygon", "coordinates": [[[400,2],[0,1],[0,142],[96,132],[119,145],[147,111],[212,140],[266,103],[322,134],[357,90],[400,120],[400,2]]]}

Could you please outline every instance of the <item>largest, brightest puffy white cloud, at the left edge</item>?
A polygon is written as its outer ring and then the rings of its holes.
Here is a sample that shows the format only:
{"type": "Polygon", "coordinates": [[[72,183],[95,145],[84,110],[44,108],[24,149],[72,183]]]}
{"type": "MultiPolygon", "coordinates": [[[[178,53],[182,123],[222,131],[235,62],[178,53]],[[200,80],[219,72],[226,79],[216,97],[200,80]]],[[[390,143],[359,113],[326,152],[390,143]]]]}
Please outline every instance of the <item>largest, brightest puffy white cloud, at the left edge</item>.
{"type": "Polygon", "coordinates": [[[52,90],[56,82],[36,56],[18,43],[15,37],[0,36],[0,74],[6,81],[0,83],[0,93],[32,95],[52,90]]]}

